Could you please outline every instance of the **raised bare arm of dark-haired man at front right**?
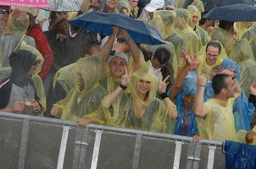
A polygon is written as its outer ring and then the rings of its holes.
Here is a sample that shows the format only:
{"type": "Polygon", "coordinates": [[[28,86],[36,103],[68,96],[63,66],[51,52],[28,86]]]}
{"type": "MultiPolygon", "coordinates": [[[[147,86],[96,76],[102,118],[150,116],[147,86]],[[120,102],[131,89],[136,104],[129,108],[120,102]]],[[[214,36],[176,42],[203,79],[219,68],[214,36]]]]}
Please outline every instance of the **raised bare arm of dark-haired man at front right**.
{"type": "Polygon", "coordinates": [[[198,77],[198,93],[194,101],[193,112],[197,117],[207,117],[207,113],[203,111],[203,94],[207,79],[205,74],[198,77]]]}

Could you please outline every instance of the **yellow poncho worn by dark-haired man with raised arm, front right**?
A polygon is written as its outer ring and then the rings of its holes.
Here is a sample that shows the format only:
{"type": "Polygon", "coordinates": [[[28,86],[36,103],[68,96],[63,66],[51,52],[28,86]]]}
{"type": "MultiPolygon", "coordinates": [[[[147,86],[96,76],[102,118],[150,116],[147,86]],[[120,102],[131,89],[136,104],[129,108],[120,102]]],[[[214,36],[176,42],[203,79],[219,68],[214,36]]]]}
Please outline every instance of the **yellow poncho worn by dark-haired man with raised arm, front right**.
{"type": "Polygon", "coordinates": [[[203,111],[207,112],[207,117],[197,117],[199,134],[203,139],[237,141],[232,108],[234,101],[234,98],[228,101],[209,99],[203,103],[203,111]]]}

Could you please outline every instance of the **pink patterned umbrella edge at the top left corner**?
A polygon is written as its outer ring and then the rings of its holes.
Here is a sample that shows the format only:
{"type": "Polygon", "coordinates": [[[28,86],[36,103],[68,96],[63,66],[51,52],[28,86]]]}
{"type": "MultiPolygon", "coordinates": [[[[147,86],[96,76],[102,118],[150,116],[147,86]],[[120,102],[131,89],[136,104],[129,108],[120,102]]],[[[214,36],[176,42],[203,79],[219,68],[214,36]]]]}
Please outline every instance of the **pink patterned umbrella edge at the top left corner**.
{"type": "Polygon", "coordinates": [[[25,8],[50,8],[47,0],[1,0],[0,5],[25,8]]]}

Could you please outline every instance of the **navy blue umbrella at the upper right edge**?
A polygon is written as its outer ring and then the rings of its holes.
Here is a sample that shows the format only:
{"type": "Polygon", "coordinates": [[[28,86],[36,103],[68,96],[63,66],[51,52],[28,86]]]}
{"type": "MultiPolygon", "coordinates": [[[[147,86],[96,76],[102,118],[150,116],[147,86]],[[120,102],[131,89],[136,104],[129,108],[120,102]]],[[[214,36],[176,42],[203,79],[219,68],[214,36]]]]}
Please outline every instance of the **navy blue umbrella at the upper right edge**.
{"type": "Polygon", "coordinates": [[[256,8],[245,4],[228,5],[216,7],[203,15],[206,19],[220,19],[231,22],[253,22],[256,21],[256,8]]]}

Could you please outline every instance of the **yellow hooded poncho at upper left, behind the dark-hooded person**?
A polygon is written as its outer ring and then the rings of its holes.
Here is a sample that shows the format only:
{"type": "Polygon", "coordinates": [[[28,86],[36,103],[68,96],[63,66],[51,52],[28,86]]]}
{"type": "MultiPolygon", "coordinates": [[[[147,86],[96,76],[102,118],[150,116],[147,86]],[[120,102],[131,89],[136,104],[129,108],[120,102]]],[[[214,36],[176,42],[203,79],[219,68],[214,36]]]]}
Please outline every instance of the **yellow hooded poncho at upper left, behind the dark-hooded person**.
{"type": "Polygon", "coordinates": [[[35,40],[30,36],[25,35],[29,26],[29,15],[25,12],[14,9],[9,14],[7,22],[7,34],[0,35],[0,68],[8,67],[8,56],[19,50],[19,45],[22,41],[25,41],[28,45],[36,47],[35,40]]]}

